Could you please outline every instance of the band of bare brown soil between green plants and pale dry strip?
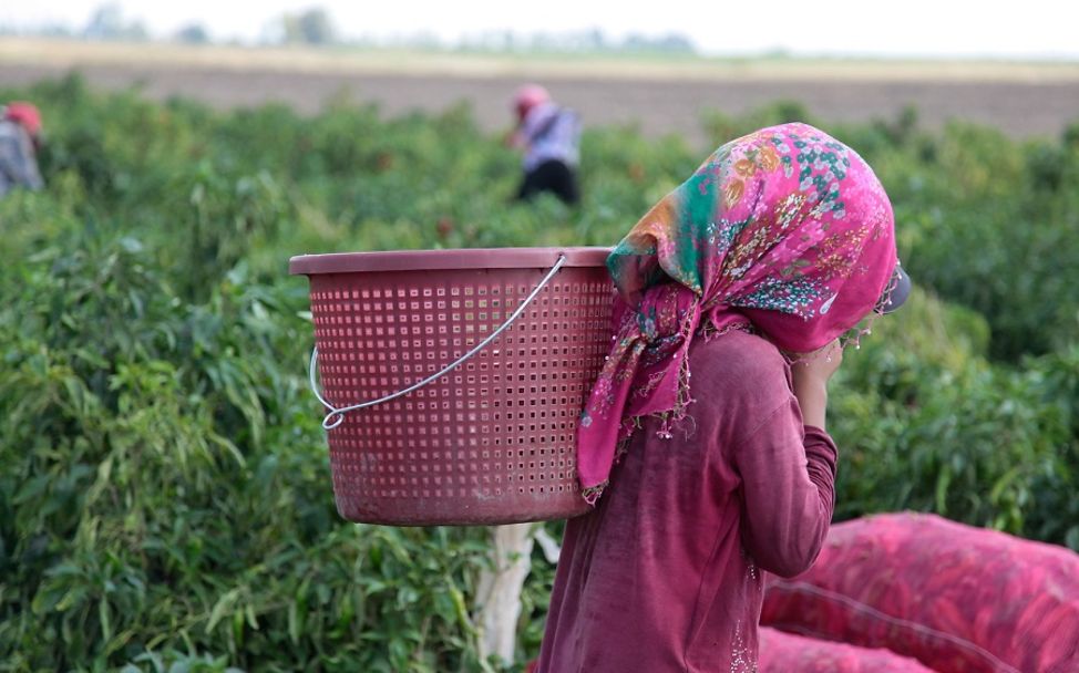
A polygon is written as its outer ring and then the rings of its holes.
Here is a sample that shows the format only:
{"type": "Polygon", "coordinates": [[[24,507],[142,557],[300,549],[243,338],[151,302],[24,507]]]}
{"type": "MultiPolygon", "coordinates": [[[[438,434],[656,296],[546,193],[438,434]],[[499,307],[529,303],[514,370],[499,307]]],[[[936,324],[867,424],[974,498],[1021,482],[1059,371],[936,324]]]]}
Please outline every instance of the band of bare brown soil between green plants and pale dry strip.
{"type": "MultiPolygon", "coordinates": [[[[0,62],[0,87],[58,77],[68,71],[55,64],[0,62]]],[[[183,95],[219,108],[273,101],[312,113],[328,99],[346,95],[378,103],[392,116],[412,110],[441,111],[465,101],[481,127],[491,132],[510,123],[508,97],[522,81],[501,74],[305,72],[161,63],[91,63],[80,71],[92,86],[103,90],[135,85],[151,99],[183,95]]],[[[787,81],[551,75],[543,82],[559,102],[577,110],[586,125],[633,124],[649,136],[680,133],[695,144],[707,143],[700,127],[702,111],[739,114],[780,100],[802,103],[824,123],[894,118],[913,105],[919,124],[927,128],[959,118],[995,126],[1014,137],[1057,136],[1079,121],[1079,83],[1073,81],[813,81],[802,74],[787,81]]]]}

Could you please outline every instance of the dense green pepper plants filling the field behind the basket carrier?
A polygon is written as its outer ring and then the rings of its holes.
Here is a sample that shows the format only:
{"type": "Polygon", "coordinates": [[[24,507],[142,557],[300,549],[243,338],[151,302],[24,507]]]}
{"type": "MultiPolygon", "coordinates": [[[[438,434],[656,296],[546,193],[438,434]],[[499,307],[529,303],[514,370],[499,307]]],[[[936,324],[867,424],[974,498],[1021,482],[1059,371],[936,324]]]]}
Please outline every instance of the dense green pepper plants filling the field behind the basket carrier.
{"type": "MultiPolygon", "coordinates": [[[[484,530],[335,512],[287,258],[609,245],[701,154],[588,130],[582,206],[520,206],[517,157],[463,106],[224,114],[78,77],[10,97],[50,138],[48,189],[0,201],[0,671],[497,670],[467,609],[484,530]]],[[[805,117],[706,124],[719,143],[805,117]]],[[[1019,144],[907,111],[835,132],[926,290],[841,370],[837,516],[934,510],[1079,549],[1075,127],[1019,144]]],[[[521,661],[553,576],[534,561],[521,661]]]]}

